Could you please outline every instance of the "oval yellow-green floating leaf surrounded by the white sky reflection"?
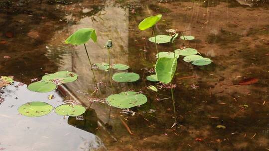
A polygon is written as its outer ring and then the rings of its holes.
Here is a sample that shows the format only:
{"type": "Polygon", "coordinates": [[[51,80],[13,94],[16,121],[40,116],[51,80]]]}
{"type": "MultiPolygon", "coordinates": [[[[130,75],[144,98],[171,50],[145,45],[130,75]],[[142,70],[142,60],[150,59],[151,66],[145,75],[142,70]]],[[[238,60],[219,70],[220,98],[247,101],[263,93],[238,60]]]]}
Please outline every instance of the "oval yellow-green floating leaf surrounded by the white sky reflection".
{"type": "Polygon", "coordinates": [[[47,115],[52,111],[53,107],[45,102],[28,102],[18,108],[21,115],[28,117],[38,117],[47,115]]]}

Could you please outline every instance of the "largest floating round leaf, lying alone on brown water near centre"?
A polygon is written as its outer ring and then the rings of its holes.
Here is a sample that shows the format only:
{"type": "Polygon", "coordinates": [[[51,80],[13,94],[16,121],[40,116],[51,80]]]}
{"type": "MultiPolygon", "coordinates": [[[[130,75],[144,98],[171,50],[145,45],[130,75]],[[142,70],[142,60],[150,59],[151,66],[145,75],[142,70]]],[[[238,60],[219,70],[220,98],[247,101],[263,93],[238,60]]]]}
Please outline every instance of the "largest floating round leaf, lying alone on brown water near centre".
{"type": "Polygon", "coordinates": [[[144,94],[134,91],[121,92],[110,95],[107,102],[114,107],[125,109],[146,103],[147,98],[144,94]]]}

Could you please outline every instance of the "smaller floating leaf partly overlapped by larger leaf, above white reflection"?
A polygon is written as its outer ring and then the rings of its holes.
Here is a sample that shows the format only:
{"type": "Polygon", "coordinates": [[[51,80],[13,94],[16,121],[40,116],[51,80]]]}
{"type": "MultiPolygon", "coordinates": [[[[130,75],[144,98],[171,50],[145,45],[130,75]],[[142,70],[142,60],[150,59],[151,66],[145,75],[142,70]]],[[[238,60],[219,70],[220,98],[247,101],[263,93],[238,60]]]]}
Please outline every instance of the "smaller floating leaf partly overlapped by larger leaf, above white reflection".
{"type": "Polygon", "coordinates": [[[27,86],[28,90],[41,93],[53,91],[56,87],[56,84],[44,81],[33,82],[27,86]]]}

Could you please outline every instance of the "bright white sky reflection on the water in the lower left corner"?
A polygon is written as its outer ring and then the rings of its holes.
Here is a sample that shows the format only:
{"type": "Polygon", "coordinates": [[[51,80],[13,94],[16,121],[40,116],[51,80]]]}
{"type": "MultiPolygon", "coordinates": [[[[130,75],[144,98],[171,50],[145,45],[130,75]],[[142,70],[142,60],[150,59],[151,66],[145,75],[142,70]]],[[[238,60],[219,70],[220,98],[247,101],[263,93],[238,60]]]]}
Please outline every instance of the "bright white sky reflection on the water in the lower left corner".
{"type": "MultiPolygon", "coordinates": [[[[26,85],[17,87],[18,84],[19,82],[14,82],[13,85],[5,87],[2,93],[5,100],[0,106],[0,148],[5,148],[8,151],[89,151],[105,149],[98,137],[69,126],[67,124],[69,120],[54,112],[36,118],[18,114],[17,108],[31,101],[44,101],[53,107],[63,104],[63,98],[55,91],[37,93],[29,91],[26,85]],[[51,94],[55,98],[49,100],[48,96],[51,94]]],[[[92,110],[88,114],[92,115],[94,111],[92,110]]],[[[96,123],[96,118],[97,116],[94,117],[94,120],[90,119],[91,123],[96,123]]]]}

